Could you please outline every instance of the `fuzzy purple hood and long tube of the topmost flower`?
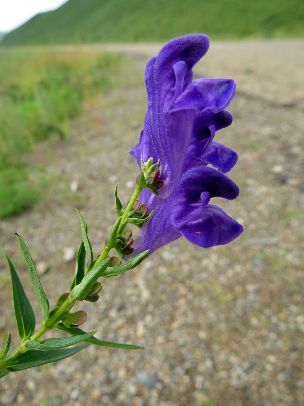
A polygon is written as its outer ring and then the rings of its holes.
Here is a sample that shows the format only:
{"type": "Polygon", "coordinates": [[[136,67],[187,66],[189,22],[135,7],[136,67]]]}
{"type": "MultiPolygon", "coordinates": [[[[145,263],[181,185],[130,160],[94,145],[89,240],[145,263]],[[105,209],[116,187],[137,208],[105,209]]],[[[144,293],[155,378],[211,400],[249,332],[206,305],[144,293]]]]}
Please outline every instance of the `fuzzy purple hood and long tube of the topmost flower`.
{"type": "MultiPolygon", "coordinates": [[[[155,148],[162,166],[160,179],[166,181],[160,190],[161,197],[169,196],[180,179],[194,120],[193,111],[184,110],[172,116],[171,113],[164,113],[164,106],[174,100],[175,93],[184,91],[190,84],[191,69],[206,53],[208,46],[209,40],[205,35],[175,39],[165,45],[157,57],[150,59],[146,67],[148,112],[142,145],[149,148],[143,148],[143,159],[150,158],[146,156],[146,151],[155,148]],[[146,141],[146,138],[150,140],[146,141]]],[[[136,152],[136,155],[139,153],[136,152]]]]}

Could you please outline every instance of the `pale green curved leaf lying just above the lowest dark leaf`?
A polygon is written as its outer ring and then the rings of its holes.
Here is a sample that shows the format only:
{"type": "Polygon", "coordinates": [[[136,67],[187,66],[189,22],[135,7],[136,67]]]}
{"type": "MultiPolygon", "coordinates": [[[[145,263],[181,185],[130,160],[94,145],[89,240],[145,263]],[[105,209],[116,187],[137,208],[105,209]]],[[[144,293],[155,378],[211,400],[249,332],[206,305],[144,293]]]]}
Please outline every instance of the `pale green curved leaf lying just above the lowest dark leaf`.
{"type": "Polygon", "coordinates": [[[75,335],[74,337],[63,337],[63,338],[47,338],[43,341],[34,341],[30,340],[27,341],[25,346],[26,348],[30,348],[31,350],[40,350],[40,351],[54,351],[60,350],[61,348],[66,348],[73,346],[73,344],[78,344],[81,341],[85,341],[86,339],[92,337],[96,333],[95,331],[91,331],[90,333],[86,333],[85,335],[75,335]]]}

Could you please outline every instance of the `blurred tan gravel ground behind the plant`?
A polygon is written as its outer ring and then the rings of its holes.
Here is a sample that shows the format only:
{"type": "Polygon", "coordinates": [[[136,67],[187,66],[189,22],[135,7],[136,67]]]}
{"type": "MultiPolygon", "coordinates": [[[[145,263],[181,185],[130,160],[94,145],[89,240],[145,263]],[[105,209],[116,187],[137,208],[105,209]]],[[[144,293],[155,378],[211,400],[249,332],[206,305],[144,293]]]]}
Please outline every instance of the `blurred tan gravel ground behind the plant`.
{"type": "MultiPolygon", "coordinates": [[[[69,288],[74,264],[67,256],[79,245],[73,207],[81,208],[98,253],[115,220],[118,180],[121,200],[131,196],[137,166],[128,151],[146,110],[138,78],[157,48],[112,49],[129,54],[132,80],[98,106],[83,106],[69,141],[37,147],[34,158],[49,182],[45,203],[0,223],[3,251],[33,303],[14,232],[42,273],[49,268],[41,281],[54,303],[69,288]]],[[[215,43],[196,69],[197,76],[237,82],[229,106],[233,125],[216,139],[239,154],[229,176],[241,194],[218,203],[244,225],[242,236],[208,250],[180,239],[135,270],[103,280],[98,302],[79,307],[88,312],[84,328],[145,349],[91,346],[56,364],[9,374],[0,382],[0,405],[304,404],[303,50],[304,41],[215,43]]],[[[17,344],[3,262],[0,281],[2,302],[9,303],[0,309],[0,338],[4,343],[10,330],[17,344]]]]}

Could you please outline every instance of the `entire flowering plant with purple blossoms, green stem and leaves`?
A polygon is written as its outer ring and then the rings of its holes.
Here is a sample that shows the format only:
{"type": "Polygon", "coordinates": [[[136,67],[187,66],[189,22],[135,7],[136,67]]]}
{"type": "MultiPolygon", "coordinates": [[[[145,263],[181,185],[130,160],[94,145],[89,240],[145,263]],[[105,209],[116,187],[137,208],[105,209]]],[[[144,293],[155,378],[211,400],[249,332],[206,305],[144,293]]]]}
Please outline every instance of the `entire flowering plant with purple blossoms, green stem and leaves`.
{"type": "Polygon", "coordinates": [[[100,277],[115,276],[135,268],[150,253],[182,235],[193,244],[208,248],[227,244],[242,233],[238,222],[218,206],[209,204],[212,197],[235,199],[239,189],[224,175],[235,165],[238,155],[213,141],[216,130],[232,122],[232,116],[225,108],[233,98],[235,83],[231,79],[193,81],[192,68],[207,52],[208,46],[205,35],[190,35],[170,41],[158,56],[149,60],[146,67],[148,111],[139,143],[130,152],[140,166],[135,191],[123,207],[116,186],[118,218],[96,259],[87,226],[77,210],[82,241],[75,275],[69,292],[58,298],[52,310],[28,248],[16,234],[43,322],[35,332],[31,304],[13,263],[6,257],[21,341],[9,353],[11,335],[8,335],[0,352],[0,378],[9,372],[59,361],[92,344],[141,349],[131,344],[101,341],[94,337],[95,330],[89,333],[81,330],[79,326],[86,321],[86,312],[71,312],[75,302],[96,302],[101,290],[100,277]],[[140,228],[135,240],[129,224],[140,228]],[[113,248],[120,258],[109,256],[113,248]],[[127,261],[122,263],[122,259],[127,261]],[[68,336],[41,340],[51,329],[68,336]],[[81,344],[73,346],[78,343],[81,344]]]}

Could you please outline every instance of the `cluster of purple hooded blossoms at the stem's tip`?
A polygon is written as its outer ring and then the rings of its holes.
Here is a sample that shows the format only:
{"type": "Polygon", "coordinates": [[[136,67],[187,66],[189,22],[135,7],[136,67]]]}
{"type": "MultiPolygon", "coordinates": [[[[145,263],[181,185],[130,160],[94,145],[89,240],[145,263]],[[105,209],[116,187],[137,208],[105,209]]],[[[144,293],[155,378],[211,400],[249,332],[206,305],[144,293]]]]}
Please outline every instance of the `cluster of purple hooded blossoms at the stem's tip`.
{"type": "Polygon", "coordinates": [[[192,67],[208,47],[208,37],[190,35],[170,41],[148,61],[148,111],[139,143],[130,153],[139,166],[141,155],[143,161],[159,158],[165,183],[158,196],[148,189],[141,192],[141,203],[153,209],[153,216],[135,239],[133,255],[146,249],[153,252],[181,235],[208,248],[227,244],[243,231],[222,209],[209,204],[212,197],[235,199],[239,189],[223,175],[238,155],[213,141],[216,130],[232,122],[225,108],[235,94],[235,83],[192,81],[192,67]]]}

